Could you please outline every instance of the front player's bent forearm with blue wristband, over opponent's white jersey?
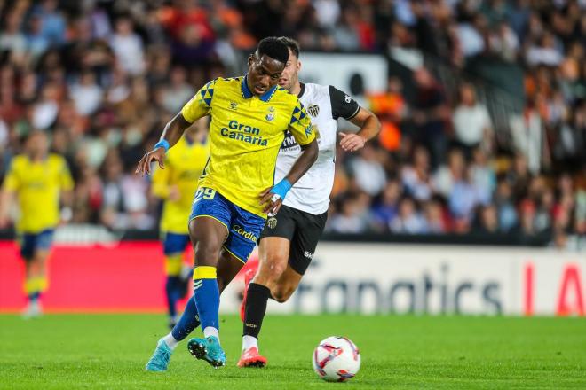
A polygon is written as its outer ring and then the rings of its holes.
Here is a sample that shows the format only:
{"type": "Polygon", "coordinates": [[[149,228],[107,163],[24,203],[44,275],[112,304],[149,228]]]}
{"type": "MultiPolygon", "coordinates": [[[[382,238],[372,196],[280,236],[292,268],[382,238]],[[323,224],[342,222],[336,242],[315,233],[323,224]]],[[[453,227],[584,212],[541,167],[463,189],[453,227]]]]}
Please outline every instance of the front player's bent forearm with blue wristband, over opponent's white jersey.
{"type": "Polygon", "coordinates": [[[260,204],[265,205],[265,213],[276,214],[279,211],[287,192],[317,160],[319,149],[315,138],[311,143],[301,146],[301,149],[301,155],[289,170],[289,174],[273,188],[268,188],[260,194],[260,204]]]}

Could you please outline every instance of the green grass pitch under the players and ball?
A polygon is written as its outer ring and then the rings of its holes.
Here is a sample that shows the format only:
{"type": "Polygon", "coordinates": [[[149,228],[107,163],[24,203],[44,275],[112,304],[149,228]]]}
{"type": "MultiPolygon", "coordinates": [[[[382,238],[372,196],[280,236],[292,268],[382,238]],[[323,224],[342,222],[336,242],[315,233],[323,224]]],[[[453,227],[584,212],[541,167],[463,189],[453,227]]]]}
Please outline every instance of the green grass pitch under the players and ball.
{"type": "Polygon", "coordinates": [[[242,324],[221,321],[226,367],[194,360],[184,341],[167,372],[151,373],[143,369],[164,316],[3,315],[0,388],[586,388],[585,318],[267,316],[265,369],[235,366],[242,324]],[[349,383],[313,373],[313,347],[331,335],[360,347],[362,367],[349,383]]]}

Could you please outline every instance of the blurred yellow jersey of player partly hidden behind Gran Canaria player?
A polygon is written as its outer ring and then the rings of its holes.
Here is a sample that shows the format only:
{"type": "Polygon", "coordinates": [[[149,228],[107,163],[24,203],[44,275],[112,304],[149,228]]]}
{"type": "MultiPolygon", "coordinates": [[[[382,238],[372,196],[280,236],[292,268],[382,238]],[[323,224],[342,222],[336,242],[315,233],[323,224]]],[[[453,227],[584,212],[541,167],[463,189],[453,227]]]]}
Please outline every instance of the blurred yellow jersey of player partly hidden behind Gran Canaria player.
{"type": "Polygon", "coordinates": [[[197,181],[202,175],[210,150],[208,144],[189,143],[185,136],[170,148],[165,168],[155,168],[152,191],[164,200],[161,231],[188,234],[187,221],[191,213],[197,181]],[[169,199],[171,187],[177,187],[178,199],[169,199]]]}

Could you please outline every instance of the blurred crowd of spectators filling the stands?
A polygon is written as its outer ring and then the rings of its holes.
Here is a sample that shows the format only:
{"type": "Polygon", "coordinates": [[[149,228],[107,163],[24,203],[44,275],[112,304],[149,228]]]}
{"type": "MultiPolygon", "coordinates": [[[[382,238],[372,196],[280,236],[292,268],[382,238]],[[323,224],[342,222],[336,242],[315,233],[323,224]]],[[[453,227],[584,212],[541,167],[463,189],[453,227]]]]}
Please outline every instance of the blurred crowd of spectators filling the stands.
{"type": "Polygon", "coordinates": [[[535,164],[531,148],[499,144],[473,83],[454,98],[422,67],[407,98],[391,75],[385,93],[361,97],[384,127],[340,152],[329,231],[517,232],[561,246],[586,234],[584,0],[0,0],[0,178],[44,129],[75,178],[74,222],[154,229],[136,162],[267,35],[312,51],[418,50],[455,72],[478,58],[517,64],[526,103],[511,129],[543,129],[547,164],[535,164]]]}

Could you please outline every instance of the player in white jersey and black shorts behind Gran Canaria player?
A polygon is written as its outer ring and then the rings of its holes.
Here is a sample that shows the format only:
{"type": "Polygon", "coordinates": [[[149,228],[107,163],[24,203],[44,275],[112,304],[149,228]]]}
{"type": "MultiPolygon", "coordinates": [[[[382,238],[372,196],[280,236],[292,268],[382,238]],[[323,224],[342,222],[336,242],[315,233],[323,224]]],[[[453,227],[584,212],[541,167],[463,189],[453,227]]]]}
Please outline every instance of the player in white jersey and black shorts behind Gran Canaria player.
{"type": "MultiPolygon", "coordinates": [[[[247,290],[241,308],[244,334],[240,367],[265,366],[266,358],[258,353],[257,339],[267,300],[288,300],[312,261],[326,224],[329,194],[334,183],[337,119],[344,118],[360,127],[357,133],[339,132],[339,144],[346,152],[359,150],[380,130],[375,114],[360,107],[341,90],[299,82],[299,45],[288,37],[280,40],[289,47],[289,60],[279,85],[296,94],[305,106],[320,152],[313,167],[289,191],[279,212],[269,215],[260,235],[258,269],[249,269],[245,276],[247,290]]],[[[286,134],[277,157],[275,183],[287,175],[300,152],[301,147],[293,136],[286,134]]]]}

